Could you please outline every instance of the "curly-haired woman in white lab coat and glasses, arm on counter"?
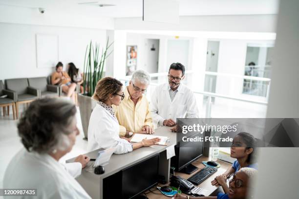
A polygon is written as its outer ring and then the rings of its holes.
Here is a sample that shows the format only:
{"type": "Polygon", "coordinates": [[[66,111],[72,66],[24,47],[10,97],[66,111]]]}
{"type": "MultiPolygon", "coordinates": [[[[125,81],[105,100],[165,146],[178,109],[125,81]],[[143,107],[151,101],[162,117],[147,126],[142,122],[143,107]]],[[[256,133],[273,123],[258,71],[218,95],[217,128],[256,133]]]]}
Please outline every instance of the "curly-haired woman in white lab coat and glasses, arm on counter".
{"type": "Polygon", "coordinates": [[[114,153],[124,154],[160,141],[160,139],[155,138],[131,143],[128,138],[119,137],[119,123],[111,105],[118,106],[124,98],[123,84],[119,80],[106,77],[97,83],[93,99],[97,100],[98,103],[89,119],[88,151],[115,147],[114,153]]]}

